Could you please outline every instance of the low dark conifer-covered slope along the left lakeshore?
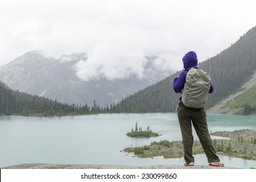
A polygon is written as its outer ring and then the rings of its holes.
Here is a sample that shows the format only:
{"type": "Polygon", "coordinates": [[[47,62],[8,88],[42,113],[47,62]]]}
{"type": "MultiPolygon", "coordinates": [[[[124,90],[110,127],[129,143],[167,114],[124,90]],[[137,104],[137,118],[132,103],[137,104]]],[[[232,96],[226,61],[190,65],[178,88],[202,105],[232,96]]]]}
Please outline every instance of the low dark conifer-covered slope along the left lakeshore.
{"type": "Polygon", "coordinates": [[[0,115],[63,116],[103,112],[96,105],[68,105],[39,96],[11,90],[0,82],[0,115]]]}

